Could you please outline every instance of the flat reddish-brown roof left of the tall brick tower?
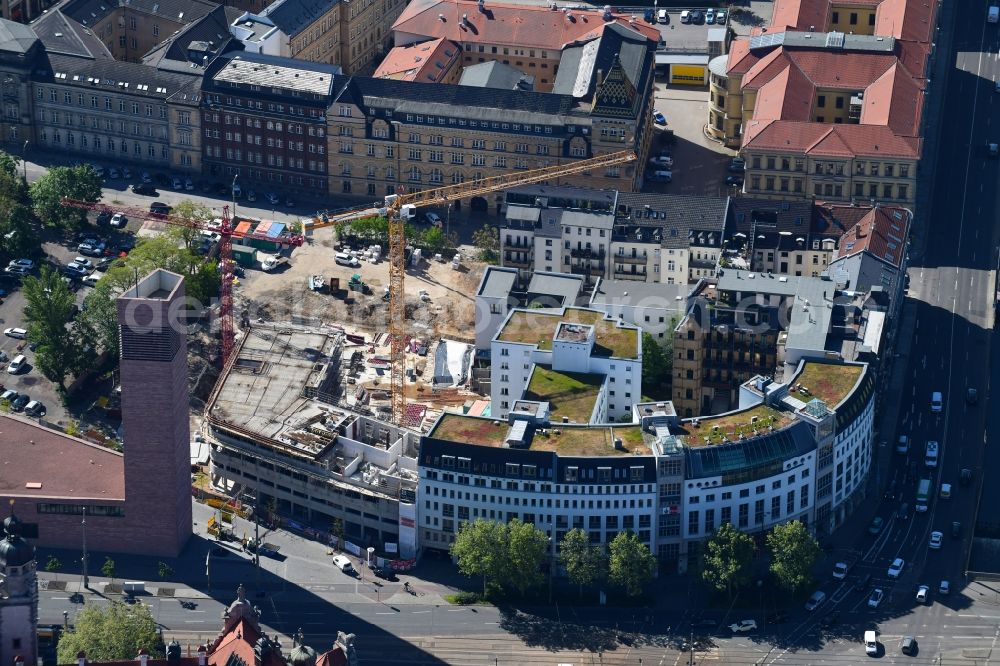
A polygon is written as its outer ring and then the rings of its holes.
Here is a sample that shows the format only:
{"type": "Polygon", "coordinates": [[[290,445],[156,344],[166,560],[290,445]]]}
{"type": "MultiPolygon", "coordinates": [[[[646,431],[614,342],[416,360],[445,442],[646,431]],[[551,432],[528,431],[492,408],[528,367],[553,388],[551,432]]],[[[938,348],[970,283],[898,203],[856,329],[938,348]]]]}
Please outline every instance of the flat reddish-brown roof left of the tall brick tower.
{"type": "Polygon", "coordinates": [[[0,495],[125,499],[122,454],[0,414],[0,495]]]}

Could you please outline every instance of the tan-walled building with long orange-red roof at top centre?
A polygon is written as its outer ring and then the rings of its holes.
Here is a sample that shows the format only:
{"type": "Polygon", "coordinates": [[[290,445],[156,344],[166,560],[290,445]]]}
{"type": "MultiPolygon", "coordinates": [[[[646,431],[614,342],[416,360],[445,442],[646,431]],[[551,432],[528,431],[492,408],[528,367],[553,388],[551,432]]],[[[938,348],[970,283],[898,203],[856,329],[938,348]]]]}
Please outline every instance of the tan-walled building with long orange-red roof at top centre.
{"type": "Polygon", "coordinates": [[[575,78],[581,62],[578,45],[593,41],[604,25],[617,25],[654,45],[659,41],[654,26],[633,18],[589,7],[557,11],[554,6],[486,0],[417,0],[407,5],[392,32],[395,46],[447,39],[461,47],[462,67],[498,62],[533,77],[535,90],[560,92],[560,68],[575,78]]]}

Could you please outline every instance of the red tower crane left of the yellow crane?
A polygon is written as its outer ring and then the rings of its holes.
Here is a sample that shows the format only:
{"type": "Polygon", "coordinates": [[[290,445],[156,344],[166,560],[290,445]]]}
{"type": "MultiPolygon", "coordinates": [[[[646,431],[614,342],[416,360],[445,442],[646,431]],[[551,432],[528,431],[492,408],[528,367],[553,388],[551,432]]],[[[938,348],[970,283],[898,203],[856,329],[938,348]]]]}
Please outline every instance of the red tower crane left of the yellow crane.
{"type": "MultiPolygon", "coordinates": [[[[113,213],[122,213],[126,217],[139,220],[157,220],[159,222],[166,222],[167,224],[178,227],[187,227],[188,229],[197,229],[199,231],[209,231],[219,234],[219,274],[221,277],[221,284],[219,285],[219,321],[221,324],[220,328],[222,330],[222,366],[225,367],[226,363],[229,362],[229,359],[232,356],[234,341],[236,338],[235,330],[233,328],[234,268],[232,259],[234,221],[229,217],[229,206],[222,207],[222,219],[220,224],[219,222],[213,223],[211,220],[190,220],[177,215],[154,213],[142,208],[130,206],[116,206],[112,208],[104,204],[80,201],[78,199],[63,199],[62,203],[64,206],[69,206],[70,208],[81,208],[83,210],[96,211],[97,213],[106,213],[109,216],[113,213]]],[[[292,234],[289,236],[272,238],[266,234],[247,233],[240,234],[239,238],[243,240],[266,240],[293,247],[298,247],[302,245],[303,242],[301,234],[292,234]]]]}

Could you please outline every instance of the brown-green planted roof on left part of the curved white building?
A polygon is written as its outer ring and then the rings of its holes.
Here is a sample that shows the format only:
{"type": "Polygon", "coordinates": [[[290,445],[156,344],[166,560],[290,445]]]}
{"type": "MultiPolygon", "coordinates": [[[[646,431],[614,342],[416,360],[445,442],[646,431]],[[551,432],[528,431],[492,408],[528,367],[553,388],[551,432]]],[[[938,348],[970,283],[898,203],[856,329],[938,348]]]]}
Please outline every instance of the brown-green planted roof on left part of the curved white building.
{"type": "MultiPolygon", "coordinates": [[[[511,426],[506,421],[464,414],[442,414],[428,437],[501,448],[510,433],[511,426]]],[[[550,451],[564,456],[628,456],[649,455],[651,453],[646,437],[638,426],[573,426],[559,425],[536,430],[529,450],[550,451]],[[556,432],[558,431],[558,432],[556,432]],[[622,441],[622,449],[616,449],[616,439],[622,441]]]]}

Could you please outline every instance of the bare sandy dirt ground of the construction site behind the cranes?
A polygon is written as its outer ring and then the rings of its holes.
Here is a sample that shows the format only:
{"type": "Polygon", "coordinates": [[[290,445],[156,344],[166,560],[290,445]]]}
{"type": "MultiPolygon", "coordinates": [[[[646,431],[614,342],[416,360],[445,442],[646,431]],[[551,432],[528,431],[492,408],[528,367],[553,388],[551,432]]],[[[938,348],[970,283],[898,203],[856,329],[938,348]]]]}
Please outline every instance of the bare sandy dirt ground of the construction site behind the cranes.
{"type": "MultiPolygon", "coordinates": [[[[340,266],[334,262],[335,233],[333,227],[317,229],[306,244],[288,251],[289,264],[273,273],[264,273],[259,265],[247,269],[246,277],[234,289],[238,315],[246,311],[251,321],[299,321],[336,324],[370,333],[386,331],[387,304],[382,300],[389,283],[386,248],[376,264],[364,261],[358,268],[340,266]],[[348,303],[327,291],[309,289],[311,275],[323,275],[327,283],[331,277],[340,278],[341,289],[346,289],[355,273],[371,287],[371,293],[362,296],[359,292],[348,292],[348,303]]],[[[449,337],[471,341],[475,291],[484,267],[482,263],[463,259],[457,271],[450,262],[433,260],[425,260],[418,268],[408,268],[405,288],[407,313],[412,313],[413,319],[410,332],[432,340],[449,337]],[[420,300],[420,290],[427,291],[429,301],[420,300]]]]}

